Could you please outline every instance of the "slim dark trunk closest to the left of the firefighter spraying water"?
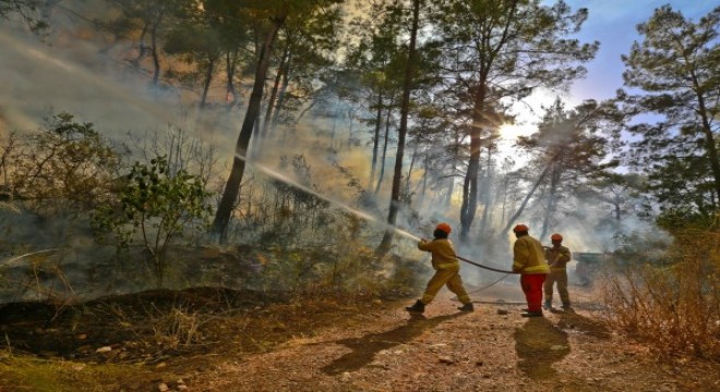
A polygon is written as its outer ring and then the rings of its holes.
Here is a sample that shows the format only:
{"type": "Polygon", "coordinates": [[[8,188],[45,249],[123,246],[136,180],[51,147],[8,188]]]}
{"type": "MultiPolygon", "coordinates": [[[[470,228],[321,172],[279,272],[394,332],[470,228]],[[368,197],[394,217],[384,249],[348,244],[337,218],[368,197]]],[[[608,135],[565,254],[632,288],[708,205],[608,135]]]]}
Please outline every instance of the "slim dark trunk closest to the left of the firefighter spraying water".
{"type": "Polygon", "coordinates": [[[418,25],[420,19],[420,1],[412,1],[412,27],[410,29],[410,48],[408,50],[408,63],[405,68],[405,81],[403,81],[403,101],[400,103],[400,130],[397,138],[397,155],[395,157],[395,173],[393,176],[393,193],[391,196],[389,213],[387,215],[387,230],[383,241],[377,247],[382,255],[389,250],[395,234],[395,222],[397,210],[400,208],[400,182],[403,180],[403,158],[405,156],[405,137],[408,133],[408,114],[410,112],[410,88],[412,87],[412,72],[416,57],[416,45],[418,38],[418,25]]]}

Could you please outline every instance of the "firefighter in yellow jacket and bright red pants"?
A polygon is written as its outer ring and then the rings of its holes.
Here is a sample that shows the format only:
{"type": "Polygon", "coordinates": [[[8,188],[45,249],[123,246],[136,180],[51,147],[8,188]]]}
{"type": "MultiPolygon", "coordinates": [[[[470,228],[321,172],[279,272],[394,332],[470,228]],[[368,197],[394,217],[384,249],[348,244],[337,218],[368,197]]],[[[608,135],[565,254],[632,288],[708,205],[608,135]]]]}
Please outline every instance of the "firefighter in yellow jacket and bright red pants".
{"type": "Polygon", "coordinates": [[[528,303],[523,317],[542,317],[542,283],[550,272],[542,244],[530,236],[530,229],[518,224],[513,229],[517,241],[513,246],[513,272],[520,273],[520,285],[528,303]]]}

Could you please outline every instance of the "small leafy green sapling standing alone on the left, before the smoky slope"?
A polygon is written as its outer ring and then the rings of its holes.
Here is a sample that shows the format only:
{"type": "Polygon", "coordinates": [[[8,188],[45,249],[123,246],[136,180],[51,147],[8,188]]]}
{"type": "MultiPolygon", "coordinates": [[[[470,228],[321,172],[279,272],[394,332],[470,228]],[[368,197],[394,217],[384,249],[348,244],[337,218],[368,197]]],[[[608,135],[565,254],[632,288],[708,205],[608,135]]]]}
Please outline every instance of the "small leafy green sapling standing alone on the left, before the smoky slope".
{"type": "Polygon", "coordinates": [[[100,242],[113,243],[118,249],[128,247],[140,234],[151,254],[156,282],[161,286],[168,246],[189,224],[203,230],[209,206],[200,177],[184,170],[170,173],[165,156],[149,163],[133,164],[117,205],[99,206],[93,226],[100,242]]]}

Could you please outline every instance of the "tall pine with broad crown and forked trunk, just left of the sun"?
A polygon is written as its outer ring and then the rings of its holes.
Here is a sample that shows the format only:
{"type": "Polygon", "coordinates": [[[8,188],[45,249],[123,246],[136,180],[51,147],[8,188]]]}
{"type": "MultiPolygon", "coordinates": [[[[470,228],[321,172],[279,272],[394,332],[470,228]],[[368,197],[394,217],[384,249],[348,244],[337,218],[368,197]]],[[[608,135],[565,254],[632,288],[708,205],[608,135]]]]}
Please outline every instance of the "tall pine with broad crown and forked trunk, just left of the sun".
{"type": "Polygon", "coordinates": [[[540,0],[444,0],[441,4],[439,24],[455,81],[449,88],[471,97],[472,102],[460,210],[460,241],[467,242],[478,204],[489,100],[523,99],[536,87],[555,87],[581,76],[585,69],[577,64],[592,59],[599,44],[581,45],[569,38],[588,12],[572,12],[563,1],[544,5],[540,0]],[[493,97],[493,90],[503,96],[493,97]]]}

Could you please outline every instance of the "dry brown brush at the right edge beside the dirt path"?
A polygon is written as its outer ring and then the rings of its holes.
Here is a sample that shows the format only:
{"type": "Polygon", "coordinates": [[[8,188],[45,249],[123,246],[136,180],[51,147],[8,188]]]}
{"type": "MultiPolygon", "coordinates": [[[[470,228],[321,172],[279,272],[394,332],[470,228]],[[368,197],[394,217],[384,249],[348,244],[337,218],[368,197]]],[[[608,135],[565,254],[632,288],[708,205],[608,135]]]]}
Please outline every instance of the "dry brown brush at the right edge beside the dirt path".
{"type": "Polygon", "coordinates": [[[623,260],[601,284],[615,329],[662,358],[720,360],[720,233],[685,231],[661,260],[623,260]]]}

